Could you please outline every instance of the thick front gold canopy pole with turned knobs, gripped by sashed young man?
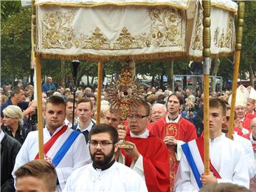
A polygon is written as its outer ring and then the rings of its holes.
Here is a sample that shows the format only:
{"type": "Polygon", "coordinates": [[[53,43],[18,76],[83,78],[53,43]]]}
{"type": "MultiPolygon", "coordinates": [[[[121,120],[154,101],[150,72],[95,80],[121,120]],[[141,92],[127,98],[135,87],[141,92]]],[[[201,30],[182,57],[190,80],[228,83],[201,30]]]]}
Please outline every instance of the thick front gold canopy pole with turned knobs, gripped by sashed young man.
{"type": "Polygon", "coordinates": [[[210,77],[210,1],[203,1],[203,131],[205,175],[210,174],[209,157],[209,77],[210,77]]]}

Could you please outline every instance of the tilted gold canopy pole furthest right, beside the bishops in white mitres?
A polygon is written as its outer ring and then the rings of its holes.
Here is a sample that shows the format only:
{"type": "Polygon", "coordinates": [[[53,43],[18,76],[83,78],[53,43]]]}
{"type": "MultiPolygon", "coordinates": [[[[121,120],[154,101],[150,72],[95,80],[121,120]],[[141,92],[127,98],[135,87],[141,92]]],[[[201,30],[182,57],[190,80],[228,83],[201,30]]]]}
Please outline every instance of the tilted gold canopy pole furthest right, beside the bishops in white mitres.
{"type": "Polygon", "coordinates": [[[228,130],[228,138],[232,139],[234,132],[234,119],[235,119],[235,100],[236,89],[238,86],[238,73],[240,63],[240,53],[242,50],[242,25],[244,23],[245,2],[239,1],[238,4],[238,28],[236,31],[236,44],[235,44],[235,66],[233,72],[233,85],[232,85],[232,102],[230,107],[230,124],[228,130]]]}

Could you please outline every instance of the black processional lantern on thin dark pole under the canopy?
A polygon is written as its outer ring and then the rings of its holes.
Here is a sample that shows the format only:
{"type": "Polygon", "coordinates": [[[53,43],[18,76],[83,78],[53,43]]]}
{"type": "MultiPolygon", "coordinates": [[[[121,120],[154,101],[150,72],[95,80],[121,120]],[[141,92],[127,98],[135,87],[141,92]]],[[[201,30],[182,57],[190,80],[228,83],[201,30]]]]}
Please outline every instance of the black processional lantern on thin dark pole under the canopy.
{"type": "Polygon", "coordinates": [[[72,128],[74,127],[75,122],[75,92],[78,89],[77,87],[77,76],[78,76],[78,66],[80,64],[79,60],[71,61],[71,69],[73,74],[73,85],[71,86],[71,90],[73,91],[73,119],[72,119],[72,128]]]}

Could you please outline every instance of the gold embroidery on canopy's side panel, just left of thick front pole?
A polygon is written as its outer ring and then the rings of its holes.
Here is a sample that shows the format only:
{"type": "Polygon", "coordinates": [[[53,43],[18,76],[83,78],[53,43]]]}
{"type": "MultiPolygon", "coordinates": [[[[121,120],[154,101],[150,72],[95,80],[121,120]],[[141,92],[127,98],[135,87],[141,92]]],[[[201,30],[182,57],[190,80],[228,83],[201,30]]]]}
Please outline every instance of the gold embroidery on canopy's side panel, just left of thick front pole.
{"type": "Polygon", "coordinates": [[[196,17],[196,33],[193,35],[193,50],[203,50],[203,11],[198,9],[196,17]]]}

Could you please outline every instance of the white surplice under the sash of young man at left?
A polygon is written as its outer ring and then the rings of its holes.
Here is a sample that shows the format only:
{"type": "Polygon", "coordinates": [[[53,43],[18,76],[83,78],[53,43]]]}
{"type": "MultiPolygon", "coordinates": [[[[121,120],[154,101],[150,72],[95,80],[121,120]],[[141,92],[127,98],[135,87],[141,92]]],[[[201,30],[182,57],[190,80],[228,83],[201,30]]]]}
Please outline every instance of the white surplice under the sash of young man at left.
{"type": "MultiPolygon", "coordinates": [[[[53,133],[56,134],[60,131],[62,127],[58,127],[56,131],[53,133]]],[[[46,156],[50,159],[53,159],[55,154],[57,154],[58,150],[65,143],[66,139],[70,136],[70,134],[74,132],[73,129],[67,129],[63,134],[58,137],[53,146],[50,148],[46,156]]],[[[51,138],[50,132],[47,128],[43,129],[43,144],[46,144],[48,140],[51,138]]],[[[26,164],[28,161],[33,161],[38,154],[38,131],[29,132],[28,137],[26,137],[25,142],[21,146],[21,150],[18,152],[16,156],[16,162],[14,166],[14,172],[23,164],[26,164]]],[[[75,171],[75,169],[80,168],[86,164],[90,164],[90,152],[85,143],[85,137],[83,134],[79,134],[75,139],[73,144],[68,149],[63,159],[61,159],[60,163],[57,167],[55,167],[59,185],[57,186],[57,190],[61,191],[65,187],[65,183],[70,176],[70,174],[75,171]]]]}

